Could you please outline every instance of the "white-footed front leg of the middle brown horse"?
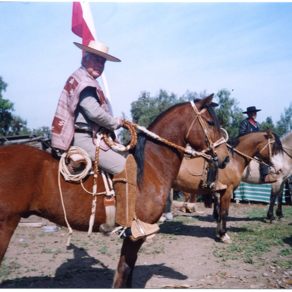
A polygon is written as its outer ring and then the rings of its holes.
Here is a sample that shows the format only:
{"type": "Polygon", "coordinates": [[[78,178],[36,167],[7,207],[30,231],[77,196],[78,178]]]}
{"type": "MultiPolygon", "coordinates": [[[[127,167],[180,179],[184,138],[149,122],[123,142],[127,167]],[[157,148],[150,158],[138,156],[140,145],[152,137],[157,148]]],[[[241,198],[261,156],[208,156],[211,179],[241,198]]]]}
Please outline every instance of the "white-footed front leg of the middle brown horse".
{"type": "Polygon", "coordinates": [[[229,211],[229,204],[230,199],[232,196],[232,188],[228,187],[225,192],[220,194],[220,210],[219,210],[219,221],[220,230],[219,230],[219,237],[221,241],[225,243],[231,243],[231,238],[227,235],[227,218],[228,218],[228,211],[229,211]]]}

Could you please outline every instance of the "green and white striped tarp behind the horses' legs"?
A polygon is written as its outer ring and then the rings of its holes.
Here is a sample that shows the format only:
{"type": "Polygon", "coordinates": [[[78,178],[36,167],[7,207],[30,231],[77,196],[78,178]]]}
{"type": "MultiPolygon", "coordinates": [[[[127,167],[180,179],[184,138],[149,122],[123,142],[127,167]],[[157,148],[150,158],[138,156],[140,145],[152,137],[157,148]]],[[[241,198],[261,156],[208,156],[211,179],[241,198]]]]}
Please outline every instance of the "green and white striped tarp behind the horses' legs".
{"type": "MultiPolygon", "coordinates": [[[[234,191],[234,199],[239,201],[261,201],[270,203],[271,184],[249,184],[240,183],[234,191]]],[[[283,194],[283,203],[285,203],[285,189],[283,194]]]]}

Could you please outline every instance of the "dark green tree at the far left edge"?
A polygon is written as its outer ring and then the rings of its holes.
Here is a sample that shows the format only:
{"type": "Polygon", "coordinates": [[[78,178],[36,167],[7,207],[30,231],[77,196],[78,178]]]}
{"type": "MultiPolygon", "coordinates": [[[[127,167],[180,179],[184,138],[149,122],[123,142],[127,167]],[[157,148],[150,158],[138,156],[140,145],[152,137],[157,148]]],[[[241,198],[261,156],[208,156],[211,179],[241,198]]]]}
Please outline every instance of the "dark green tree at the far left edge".
{"type": "Polygon", "coordinates": [[[5,83],[0,76],[0,134],[6,135],[9,131],[9,127],[12,125],[13,115],[13,103],[8,99],[2,98],[2,91],[6,91],[8,84],[5,83]]]}

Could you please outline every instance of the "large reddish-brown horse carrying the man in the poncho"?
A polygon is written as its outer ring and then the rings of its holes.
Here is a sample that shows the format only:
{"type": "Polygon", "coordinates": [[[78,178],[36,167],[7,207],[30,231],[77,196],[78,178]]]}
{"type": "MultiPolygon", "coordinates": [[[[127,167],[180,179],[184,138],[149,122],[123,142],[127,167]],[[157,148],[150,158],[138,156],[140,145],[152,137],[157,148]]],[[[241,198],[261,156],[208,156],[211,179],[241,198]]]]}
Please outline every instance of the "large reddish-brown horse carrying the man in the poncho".
{"type": "MultiPolygon", "coordinates": [[[[213,142],[222,136],[214,110],[210,106],[213,94],[196,102],[203,123],[213,142]]],[[[164,139],[185,147],[190,144],[195,150],[206,148],[205,134],[191,103],[173,106],[159,115],[148,128],[164,139]],[[193,123],[192,123],[193,122],[193,123]],[[187,137],[187,138],[186,138],[187,137]]],[[[146,223],[156,223],[164,211],[167,195],[180,169],[183,151],[166,146],[153,138],[140,135],[134,148],[138,167],[138,185],[135,213],[146,223]]],[[[211,151],[206,153],[212,154],[211,151]]],[[[229,161],[226,144],[217,147],[219,167],[229,161]]],[[[21,217],[37,215],[62,226],[67,226],[58,187],[59,161],[52,154],[30,146],[0,147],[0,260],[21,217]]],[[[91,216],[92,196],[83,190],[80,183],[61,179],[61,189],[69,224],[75,230],[88,231],[91,216]]],[[[92,190],[93,178],[88,176],[84,186],[92,190]]],[[[102,179],[98,191],[105,188],[102,179]]],[[[104,196],[97,196],[93,232],[106,222],[104,196]]],[[[143,239],[135,242],[124,239],[114,288],[131,287],[131,278],[137,253],[143,239]]]]}

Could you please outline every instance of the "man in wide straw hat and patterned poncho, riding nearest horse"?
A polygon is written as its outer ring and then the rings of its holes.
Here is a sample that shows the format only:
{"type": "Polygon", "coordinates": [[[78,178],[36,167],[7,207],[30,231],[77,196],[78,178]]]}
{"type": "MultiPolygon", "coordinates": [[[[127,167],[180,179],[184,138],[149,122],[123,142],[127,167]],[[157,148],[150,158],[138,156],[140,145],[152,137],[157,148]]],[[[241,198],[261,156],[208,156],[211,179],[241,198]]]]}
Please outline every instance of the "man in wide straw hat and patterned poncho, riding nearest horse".
{"type": "MultiPolygon", "coordinates": [[[[113,131],[123,126],[120,117],[112,117],[107,99],[96,81],[103,73],[107,60],[120,60],[109,55],[109,47],[97,41],[91,40],[88,46],[74,44],[85,53],[81,60],[82,66],[68,78],[61,93],[52,125],[52,146],[63,151],[67,151],[71,146],[80,147],[94,162],[96,134],[106,128],[114,136],[113,131]]],[[[118,142],[117,139],[115,141],[118,142]]],[[[133,183],[134,187],[130,184],[131,187],[127,188],[123,182],[129,180],[129,177],[131,179],[131,176],[136,177],[133,156],[128,155],[126,159],[111,149],[102,138],[99,143],[98,167],[114,176],[116,197],[125,202],[124,210],[117,210],[115,221],[130,228],[134,218],[136,182],[129,182],[133,183]]],[[[156,224],[140,224],[144,231],[157,231],[156,224]]],[[[131,235],[129,228],[127,234],[131,235]]]]}

